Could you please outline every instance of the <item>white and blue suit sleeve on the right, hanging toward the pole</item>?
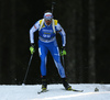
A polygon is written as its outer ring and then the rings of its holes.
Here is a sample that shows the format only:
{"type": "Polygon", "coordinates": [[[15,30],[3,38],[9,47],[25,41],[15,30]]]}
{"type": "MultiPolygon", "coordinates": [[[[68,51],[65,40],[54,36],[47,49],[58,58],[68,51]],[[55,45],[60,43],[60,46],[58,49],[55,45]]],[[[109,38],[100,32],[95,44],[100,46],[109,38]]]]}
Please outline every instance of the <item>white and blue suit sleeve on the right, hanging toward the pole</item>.
{"type": "Polygon", "coordinates": [[[66,45],[66,33],[59,23],[57,23],[56,25],[56,31],[61,34],[63,46],[65,46],[66,45]]]}

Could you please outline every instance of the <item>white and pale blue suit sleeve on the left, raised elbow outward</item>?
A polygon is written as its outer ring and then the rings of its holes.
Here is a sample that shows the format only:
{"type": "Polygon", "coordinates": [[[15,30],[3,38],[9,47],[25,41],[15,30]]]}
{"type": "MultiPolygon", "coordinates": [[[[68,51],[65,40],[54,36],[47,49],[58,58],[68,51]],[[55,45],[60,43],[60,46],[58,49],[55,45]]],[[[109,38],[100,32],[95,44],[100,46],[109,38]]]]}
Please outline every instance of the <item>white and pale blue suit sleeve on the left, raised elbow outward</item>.
{"type": "Polygon", "coordinates": [[[34,32],[37,31],[40,27],[40,21],[37,21],[31,29],[30,29],[30,42],[31,44],[34,43],[34,32]]]}

